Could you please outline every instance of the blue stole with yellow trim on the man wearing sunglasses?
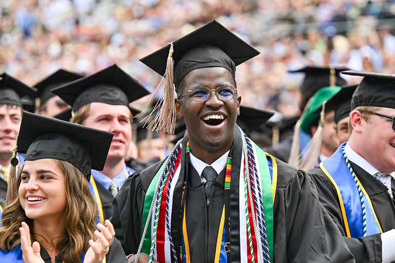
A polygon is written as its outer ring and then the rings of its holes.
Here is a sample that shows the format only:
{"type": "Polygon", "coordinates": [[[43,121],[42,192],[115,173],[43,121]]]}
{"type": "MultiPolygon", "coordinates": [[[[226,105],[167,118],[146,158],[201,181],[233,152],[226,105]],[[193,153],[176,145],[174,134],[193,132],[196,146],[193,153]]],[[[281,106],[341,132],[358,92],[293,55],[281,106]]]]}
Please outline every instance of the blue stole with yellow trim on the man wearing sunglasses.
{"type": "Polygon", "coordinates": [[[382,233],[369,195],[357,175],[354,178],[346,164],[342,152],[345,145],[346,143],[340,145],[319,167],[336,188],[346,234],[348,237],[358,238],[363,236],[364,230],[366,235],[382,233]]]}

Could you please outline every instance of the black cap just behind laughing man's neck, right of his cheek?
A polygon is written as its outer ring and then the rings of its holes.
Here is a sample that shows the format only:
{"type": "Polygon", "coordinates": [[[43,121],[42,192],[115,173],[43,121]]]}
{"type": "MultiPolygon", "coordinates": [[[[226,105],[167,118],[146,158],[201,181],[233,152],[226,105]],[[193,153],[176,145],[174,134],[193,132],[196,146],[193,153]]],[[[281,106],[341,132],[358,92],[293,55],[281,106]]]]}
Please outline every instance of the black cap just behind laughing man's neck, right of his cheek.
{"type": "Polygon", "coordinates": [[[236,123],[248,135],[259,129],[273,115],[273,112],[240,106],[240,114],[237,116],[236,123]]]}

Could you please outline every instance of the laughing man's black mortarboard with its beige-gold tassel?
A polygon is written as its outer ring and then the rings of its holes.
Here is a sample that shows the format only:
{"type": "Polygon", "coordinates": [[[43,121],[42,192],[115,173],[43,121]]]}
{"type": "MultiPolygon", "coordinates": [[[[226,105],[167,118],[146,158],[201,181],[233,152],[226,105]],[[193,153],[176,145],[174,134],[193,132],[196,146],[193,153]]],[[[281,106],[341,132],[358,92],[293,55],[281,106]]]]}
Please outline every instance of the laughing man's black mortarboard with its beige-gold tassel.
{"type": "Polygon", "coordinates": [[[255,48],[212,20],[140,59],[159,75],[166,77],[160,109],[148,128],[174,132],[176,114],[173,83],[177,91],[180,82],[189,72],[200,68],[222,67],[235,76],[237,65],[258,54],[259,51],[255,48]]]}

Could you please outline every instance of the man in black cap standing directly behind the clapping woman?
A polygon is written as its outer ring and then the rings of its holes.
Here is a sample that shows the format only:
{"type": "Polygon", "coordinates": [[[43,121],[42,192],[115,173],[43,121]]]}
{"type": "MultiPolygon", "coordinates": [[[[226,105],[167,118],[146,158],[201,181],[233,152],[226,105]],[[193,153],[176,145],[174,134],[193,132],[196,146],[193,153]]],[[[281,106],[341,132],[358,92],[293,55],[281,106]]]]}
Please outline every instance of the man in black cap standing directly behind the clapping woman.
{"type": "Polygon", "coordinates": [[[104,222],[111,217],[113,197],[134,172],[125,165],[132,137],[129,103],[149,92],[117,65],[69,82],[52,92],[72,106],[71,122],[115,134],[103,171],[92,170],[90,178],[104,222]]]}

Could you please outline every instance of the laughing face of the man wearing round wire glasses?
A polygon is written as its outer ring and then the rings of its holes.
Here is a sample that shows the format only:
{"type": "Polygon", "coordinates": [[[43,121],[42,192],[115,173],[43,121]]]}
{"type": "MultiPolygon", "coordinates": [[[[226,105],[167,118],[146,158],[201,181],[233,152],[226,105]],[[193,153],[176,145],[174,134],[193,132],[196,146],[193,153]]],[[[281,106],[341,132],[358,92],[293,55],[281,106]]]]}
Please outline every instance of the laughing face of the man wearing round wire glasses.
{"type": "MultiPolygon", "coordinates": [[[[233,76],[225,68],[196,69],[184,77],[178,95],[186,94],[197,86],[216,89],[221,85],[236,88],[233,76]]],[[[225,152],[230,149],[240,101],[241,97],[237,94],[230,101],[221,101],[215,96],[215,91],[210,91],[210,96],[205,102],[194,101],[189,93],[182,99],[176,99],[177,115],[184,118],[187,124],[194,154],[197,148],[208,152],[225,152]]]]}

